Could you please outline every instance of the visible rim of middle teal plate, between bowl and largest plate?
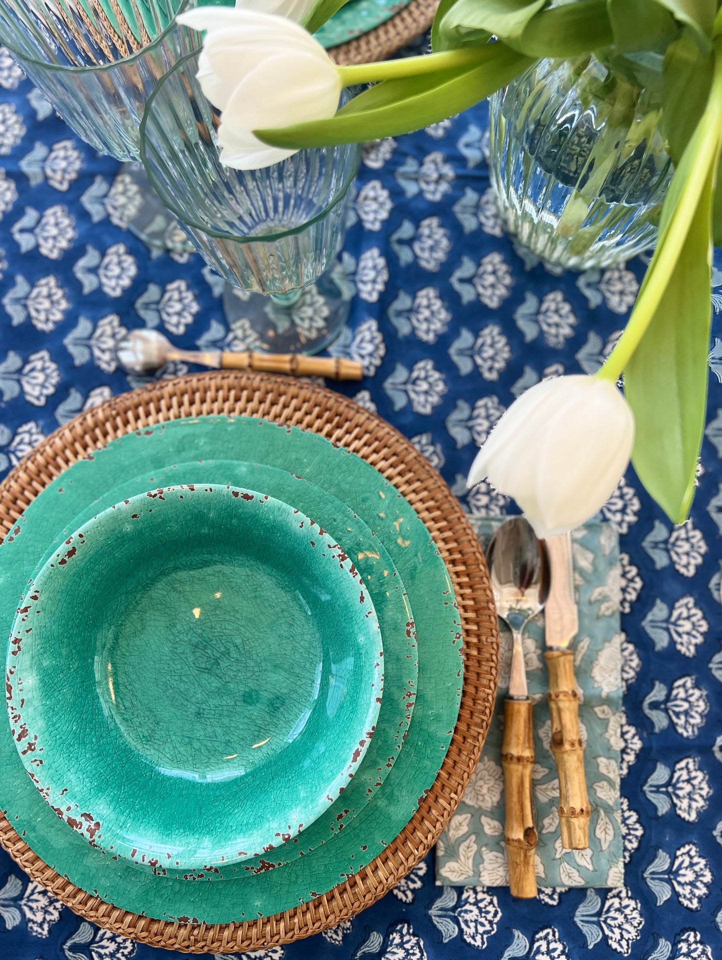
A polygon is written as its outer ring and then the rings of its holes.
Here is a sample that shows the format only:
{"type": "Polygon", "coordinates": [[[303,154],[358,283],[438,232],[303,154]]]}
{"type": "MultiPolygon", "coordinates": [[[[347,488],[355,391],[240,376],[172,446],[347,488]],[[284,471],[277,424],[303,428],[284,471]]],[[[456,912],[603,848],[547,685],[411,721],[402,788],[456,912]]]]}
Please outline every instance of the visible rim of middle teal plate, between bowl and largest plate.
{"type": "MultiPolygon", "coordinates": [[[[188,483],[229,481],[236,487],[262,489],[278,500],[301,509],[304,514],[317,517],[349,554],[361,574],[371,594],[384,642],[384,695],[373,740],[342,797],[325,814],[304,828],[300,836],[286,843],[281,843],[279,839],[274,842],[273,851],[269,850],[264,856],[247,860],[242,865],[221,864],[211,871],[194,874],[179,873],[167,867],[157,868],[162,876],[195,880],[229,879],[246,876],[248,872],[262,873],[274,865],[279,867],[321,846],[339,830],[345,829],[373,797],[396,761],[414,711],[419,673],[416,631],[411,604],[396,566],[363,520],[355,516],[346,504],[315,484],[287,470],[261,464],[226,460],[195,461],[153,471],[152,476],[144,474],[124,481],[104,493],[81,514],[74,516],[38,565],[44,564],[52,556],[69,533],[107,506],[136,491],[179,482],[180,477],[186,478],[188,483]]],[[[38,507],[47,510],[52,502],[44,500],[38,503],[38,507]]],[[[54,820],[50,821],[50,826],[57,830],[54,820]]]]}

